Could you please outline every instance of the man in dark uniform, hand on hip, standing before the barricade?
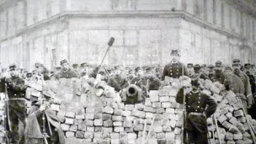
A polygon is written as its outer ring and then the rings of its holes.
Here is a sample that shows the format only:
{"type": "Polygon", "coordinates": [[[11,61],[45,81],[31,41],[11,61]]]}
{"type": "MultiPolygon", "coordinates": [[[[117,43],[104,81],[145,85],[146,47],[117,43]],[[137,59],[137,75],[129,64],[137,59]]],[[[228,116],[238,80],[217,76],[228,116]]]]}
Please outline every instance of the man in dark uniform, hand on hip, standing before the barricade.
{"type": "MultiPolygon", "coordinates": [[[[206,119],[216,111],[216,100],[211,96],[201,93],[198,78],[191,80],[192,91],[185,93],[185,108],[187,111],[187,120],[185,120],[185,131],[188,134],[189,143],[207,144],[207,122],[206,119]],[[207,108],[206,108],[207,105],[207,108]]],[[[176,97],[176,102],[183,104],[184,90],[180,88],[176,97]]],[[[184,136],[186,137],[186,135],[184,136]]]]}

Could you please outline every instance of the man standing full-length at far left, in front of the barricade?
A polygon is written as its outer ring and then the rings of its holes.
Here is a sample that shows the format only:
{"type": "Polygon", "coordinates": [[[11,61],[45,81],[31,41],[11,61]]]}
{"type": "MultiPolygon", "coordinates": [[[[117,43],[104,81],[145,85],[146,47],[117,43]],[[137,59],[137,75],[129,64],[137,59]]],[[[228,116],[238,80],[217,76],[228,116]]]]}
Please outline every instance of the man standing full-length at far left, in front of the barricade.
{"type": "Polygon", "coordinates": [[[3,78],[1,82],[2,93],[8,94],[8,117],[11,122],[11,138],[12,143],[19,144],[24,142],[24,136],[19,137],[19,120],[25,123],[26,115],[26,101],[25,101],[25,91],[26,83],[23,78],[19,77],[18,72],[16,71],[16,66],[14,64],[9,66],[10,76],[3,78]],[[5,84],[6,89],[5,91],[5,84]]]}

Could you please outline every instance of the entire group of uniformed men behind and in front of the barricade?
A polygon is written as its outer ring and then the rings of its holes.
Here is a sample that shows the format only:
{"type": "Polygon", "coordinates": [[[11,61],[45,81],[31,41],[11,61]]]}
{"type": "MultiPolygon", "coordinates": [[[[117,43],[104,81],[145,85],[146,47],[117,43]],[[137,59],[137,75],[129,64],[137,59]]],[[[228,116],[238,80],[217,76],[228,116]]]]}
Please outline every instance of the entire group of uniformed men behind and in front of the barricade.
{"type": "MultiPolygon", "coordinates": [[[[19,120],[24,124],[24,129],[27,130],[27,132],[29,131],[25,120],[25,90],[28,87],[28,81],[40,79],[58,80],[60,78],[73,77],[88,79],[93,77],[104,81],[109,84],[109,86],[115,88],[116,92],[120,93],[133,84],[136,88],[141,90],[143,95],[141,101],[143,102],[150,90],[162,88],[164,85],[163,81],[166,77],[190,77],[192,79],[192,91],[187,91],[186,88],[179,89],[176,101],[186,105],[186,117],[188,119],[186,120],[185,127],[189,134],[187,140],[192,143],[207,143],[207,132],[205,132],[207,131],[206,118],[210,117],[216,111],[216,101],[211,98],[211,96],[201,93],[200,91],[200,78],[211,80],[213,83],[218,82],[224,84],[227,90],[232,90],[236,93],[237,97],[242,100],[246,113],[255,118],[255,115],[252,113],[255,109],[253,105],[255,95],[253,65],[245,64],[242,68],[241,61],[235,59],[232,61],[231,67],[223,67],[221,61],[216,61],[215,66],[200,66],[199,64],[194,65],[192,63],[185,66],[179,61],[179,58],[179,51],[172,51],[170,55],[171,61],[163,67],[162,72],[160,67],[136,67],[133,70],[130,67],[121,66],[109,69],[108,67],[104,67],[104,65],[100,65],[92,69],[86,62],[83,62],[80,67],[78,64],[73,64],[72,67],[70,67],[67,60],[62,60],[60,62],[61,67],[56,67],[54,72],[49,72],[44,65],[40,63],[35,64],[35,70],[31,73],[18,71],[15,65],[9,66],[9,70],[3,71],[1,74],[0,89],[2,93],[8,94],[9,120],[12,124],[11,137],[13,143],[23,143],[25,141],[24,136],[20,138],[18,133],[19,120]]],[[[30,116],[31,118],[34,116],[41,121],[42,114],[45,113],[47,108],[45,105],[40,104],[38,99],[34,99],[32,105],[34,109],[30,109],[27,117],[30,116]]],[[[50,115],[51,112],[48,110],[47,114],[50,115]]],[[[48,119],[50,119],[49,116],[48,119]]],[[[31,125],[31,123],[29,125],[31,125]]],[[[47,140],[52,143],[62,141],[60,136],[61,131],[59,131],[57,126],[55,127],[56,129],[54,130],[58,132],[57,137],[51,136],[51,138],[47,138],[47,140]]],[[[39,130],[41,129],[39,128],[39,130]]],[[[35,131],[31,133],[35,133],[35,131]]],[[[29,140],[29,143],[31,143],[31,140],[29,140]]]]}

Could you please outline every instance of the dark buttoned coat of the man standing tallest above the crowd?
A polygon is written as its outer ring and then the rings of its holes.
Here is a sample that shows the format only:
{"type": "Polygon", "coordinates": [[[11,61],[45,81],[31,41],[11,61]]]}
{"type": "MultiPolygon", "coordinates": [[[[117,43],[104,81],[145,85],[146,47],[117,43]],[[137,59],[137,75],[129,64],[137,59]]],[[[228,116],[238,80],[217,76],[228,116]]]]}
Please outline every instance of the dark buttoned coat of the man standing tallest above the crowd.
{"type": "Polygon", "coordinates": [[[179,78],[180,76],[188,76],[187,67],[183,63],[169,63],[163,68],[163,75],[161,80],[163,81],[165,76],[179,78]]]}

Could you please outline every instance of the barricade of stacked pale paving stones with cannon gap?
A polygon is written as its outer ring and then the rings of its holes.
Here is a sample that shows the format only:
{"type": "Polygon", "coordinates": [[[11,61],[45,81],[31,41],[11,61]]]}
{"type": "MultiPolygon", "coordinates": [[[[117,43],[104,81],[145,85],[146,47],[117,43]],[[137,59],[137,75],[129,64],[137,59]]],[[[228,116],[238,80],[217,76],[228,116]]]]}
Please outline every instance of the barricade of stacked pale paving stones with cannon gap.
{"type": "MultiPolygon", "coordinates": [[[[150,91],[143,103],[124,104],[120,93],[106,83],[87,79],[61,79],[60,81],[29,83],[26,99],[54,98],[50,108],[56,112],[65,133],[67,143],[136,144],[148,138],[147,143],[181,143],[183,126],[182,104],[175,97],[189,79],[168,79],[158,91],[150,91]],[[148,137],[147,137],[148,136],[148,137]]],[[[209,138],[218,141],[218,125],[222,143],[253,143],[249,125],[232,91],[225,91],[220,83],[200,80],[203,93],[216,99],[217,123],[208,118],[209,138]]],[[[0,113],[4,103],[0,104],[0,113]]],[[[28,108],[31,103],[28,103],[28,108]]],[[[29,109],[28,109],[29,110],[29,109]]],[[[256,120],[249,116],[250,124],[256,128],[256,120]]],[[[1,121],[3,124],[3,121],[1,121]]],[[[0,130],[3,125],[0,126],[0,130]]],[[[4,141],[0,132],[0,140],[4,141]]]]}

